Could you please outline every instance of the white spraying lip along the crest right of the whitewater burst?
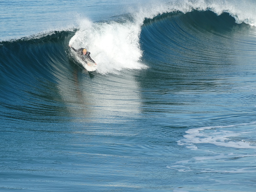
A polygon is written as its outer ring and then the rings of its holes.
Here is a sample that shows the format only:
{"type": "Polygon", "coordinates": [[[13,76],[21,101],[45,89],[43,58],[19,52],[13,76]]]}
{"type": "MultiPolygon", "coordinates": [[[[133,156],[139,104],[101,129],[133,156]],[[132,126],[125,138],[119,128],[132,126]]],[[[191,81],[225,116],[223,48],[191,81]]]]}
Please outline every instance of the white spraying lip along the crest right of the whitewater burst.
{"type": "Polygon", "coordinates": [[[228,1],[228,0],[174,0],[168,3],[152,3],[138,8],[136,18],[142,22],[143,18],[154,18],[157,15],[171,12],[188,13],[193,10],[211,10],[217,15],[224,12],[229,13],[237,24],[245,23],[255,26],[256,10],[255,2],[249,1],[228,1]]]}

